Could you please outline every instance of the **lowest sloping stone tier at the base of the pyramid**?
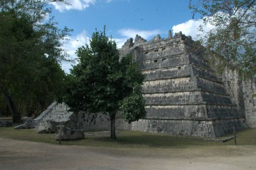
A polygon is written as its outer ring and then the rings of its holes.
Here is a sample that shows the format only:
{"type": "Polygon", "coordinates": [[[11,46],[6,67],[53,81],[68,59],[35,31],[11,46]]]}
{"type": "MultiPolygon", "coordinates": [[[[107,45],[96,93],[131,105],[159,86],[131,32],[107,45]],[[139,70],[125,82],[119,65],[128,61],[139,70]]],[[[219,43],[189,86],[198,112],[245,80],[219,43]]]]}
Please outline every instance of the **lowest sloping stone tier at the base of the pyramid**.
{"type": "Polygon", "coordinates": [[[143,119],[131,124],[125,122],[122,118],[116,120],[117,129],[198,137],[220,137],[221,135],[230,134],[233,126],[237,130],[246,128],[244,118],[223,120],[143,119]]]}

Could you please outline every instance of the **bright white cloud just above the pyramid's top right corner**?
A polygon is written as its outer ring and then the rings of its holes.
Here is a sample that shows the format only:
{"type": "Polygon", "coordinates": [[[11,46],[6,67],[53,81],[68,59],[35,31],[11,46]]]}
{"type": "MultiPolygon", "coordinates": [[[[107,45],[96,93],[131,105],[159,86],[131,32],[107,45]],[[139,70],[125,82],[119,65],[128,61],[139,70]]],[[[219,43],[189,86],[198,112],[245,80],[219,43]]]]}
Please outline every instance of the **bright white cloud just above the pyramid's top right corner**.
{"type": "Polygon", "coordinates": [[[207,33],[212,28],[214,28],[214,26],[212,26],[211,24],[205,25],[203,20],[188,20],[187,22],[173,26],[172,30],[173,33],[179,33],[180,31],[182,31],[182,34],[186,36],[191,36],[193,40],[198,40],[197,35],[202,34],[202,32],[198,30],[200,25],[204,26],[204,33],[207,33]]]}

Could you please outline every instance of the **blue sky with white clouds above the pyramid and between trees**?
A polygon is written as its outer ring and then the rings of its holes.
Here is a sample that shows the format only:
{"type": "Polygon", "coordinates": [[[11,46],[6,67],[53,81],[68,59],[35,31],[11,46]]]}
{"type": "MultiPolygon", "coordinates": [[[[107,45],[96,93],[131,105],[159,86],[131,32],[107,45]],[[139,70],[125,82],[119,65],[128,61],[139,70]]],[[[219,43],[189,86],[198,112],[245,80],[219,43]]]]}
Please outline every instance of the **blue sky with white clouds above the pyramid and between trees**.
{"type": "MultiPolygon", "coordinates": [[[[188,9],[188,0],[67,0],[71,5],[52,3],[52,14],[58,26],[74,29],[65,42],[65,48],[71,58],[78,47],[88,43],[95,28],[112,36],[118,47],[122,47],[128,38],[136,34],[151,40],[159,34],[168,36],[168,30],[182,31],[196,39],[196,29],[202,23],[192,20],[188,9]]],[[[173,34],[174,34],[173,33],[173,34]]],[[[70,63],[63,63],[68,72],[70,63]]]]}

